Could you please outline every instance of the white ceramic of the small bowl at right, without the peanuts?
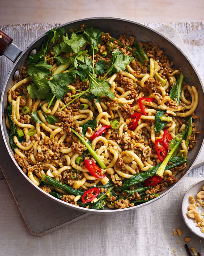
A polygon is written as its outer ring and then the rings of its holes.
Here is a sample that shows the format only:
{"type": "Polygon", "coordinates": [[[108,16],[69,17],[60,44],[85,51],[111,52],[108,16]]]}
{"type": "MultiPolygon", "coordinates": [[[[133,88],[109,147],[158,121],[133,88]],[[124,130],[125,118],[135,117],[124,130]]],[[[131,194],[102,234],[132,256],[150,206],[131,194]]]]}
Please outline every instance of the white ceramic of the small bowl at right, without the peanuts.
{"type": "MultiPolygon", "coordinates": [[[[192,231],[195,235],[197,235],[200,238],[204,239],[204,234],[201,232],[201,229],[197,227],[197,223],[194,223],[194,218],[190,218],[187,215],[188,206],[190,204],[189,197],[192,195],[195,200],[197,199],[196,195],[199,191],[202,191],[202,187],[204,185],[204,179],[194,183],[189,189],[186,191],[183,202],[182,202],[182,217],[184,219],[184,222],[186,226],[192,231]]],[[[197,202],[197,201],[196,201],[197,202]]],[[[196,207],[199,214],[204,210],[204,207],[199,206],[196,207]]]]}

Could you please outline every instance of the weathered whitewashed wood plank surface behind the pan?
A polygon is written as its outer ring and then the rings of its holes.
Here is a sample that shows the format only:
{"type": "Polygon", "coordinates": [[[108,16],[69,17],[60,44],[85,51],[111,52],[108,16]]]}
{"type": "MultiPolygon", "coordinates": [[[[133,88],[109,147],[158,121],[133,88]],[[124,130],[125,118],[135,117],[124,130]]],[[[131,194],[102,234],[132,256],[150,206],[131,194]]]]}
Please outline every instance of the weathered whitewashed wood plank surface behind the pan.
{"type": "MultiPolygon", "coordinates": [[[[171,25],[179,32],[187,50],[192,57],[195,67],[197,68],[201,78],[204,78],[203,59],[204,59],[204,23],[143,23],[153,29],[163,25],[171,25]]],[[[0,30],[8,34],[13,43],[20,49],[24,50],[30,43],[32,43],[37,37],[42,35],[45,31],[60,25],[59,23],[41,23],[41,24],[23,24],[23,25],[10,25],[0,26],[0,30]]],[[[5,56],[0,58],[0,93],[2,92],[3,85],[5,83],[7,74],[11,69],[13,63],[5,56]]],[[[204,161],[204,154],[203,154],[204,161]]],[[[204,176],[204,166],[198,167],[192,170],[189,176],[204,176]]],[[[4,179],[0,171],[0,179],[4,179]]]]}

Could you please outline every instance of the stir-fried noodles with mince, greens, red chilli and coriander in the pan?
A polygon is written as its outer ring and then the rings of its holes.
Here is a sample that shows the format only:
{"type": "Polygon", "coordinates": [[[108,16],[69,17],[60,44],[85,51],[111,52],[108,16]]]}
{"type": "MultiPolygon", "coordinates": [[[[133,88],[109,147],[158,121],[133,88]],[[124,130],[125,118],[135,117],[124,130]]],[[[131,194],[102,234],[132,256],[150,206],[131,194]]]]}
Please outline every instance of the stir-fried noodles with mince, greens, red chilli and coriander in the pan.
{"type": "Polygon", "coordinates": [[[46,36],[8,93],[18,165],[75,206],[122,209],[158,197],[196,143],[196,87],[152,42],[84,25],[46,36]]]}

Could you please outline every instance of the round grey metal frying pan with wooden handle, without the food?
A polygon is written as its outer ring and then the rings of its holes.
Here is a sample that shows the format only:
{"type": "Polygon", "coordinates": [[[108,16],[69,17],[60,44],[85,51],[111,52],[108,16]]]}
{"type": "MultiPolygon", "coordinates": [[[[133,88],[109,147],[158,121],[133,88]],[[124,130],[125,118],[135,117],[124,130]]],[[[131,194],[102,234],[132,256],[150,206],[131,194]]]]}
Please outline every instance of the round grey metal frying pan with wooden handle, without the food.
{"type": "Polygon", "coordinates": [[[198,95],[199,95],[199,103],[196,109],[196,114],[198,115],[196,126],[200,131],[200,134],[198,134],[197,136],[197,143],[195,144],[194,149],[188,153],[188,158],[187,158],[188,164],[185,168],[185,173],[181,176],[179,174],[178,181],[174,183],[172,186],[168,186],[166,190],[160,193],[159,197],[154,198],[151,201],[142,203],[134,207],[129,207],[126,209],[105,208],[104,210],[94,210],[94,209],[74,206],[69,203],[63,202],[57,198],[52,197],[51,195],[47,194],[42,189],[37,187],[34,183],[32,183],[32,181],[23,173],[23,171],[18,166],[14,158],[14,153],[9,145],[8,137],[9,137],[10,131],[7,129],[5,124],[5,109],[7,106],[8,91],[12,87],[14,80],[17,78],[18,72],[21,71],[22,68],[26,65],[28,56],[31,53],[33,53],[33,50],[40,49],[41,44],[47,39],[46,35],[42,35],[39,38],[37,38],[33,43],[31,43],[31,45],[29,45],[22,52],[18,47],[16,47],[14,44],[11,43],[12,39],[10,37],[8,37],[4,33],[2,33],[2,31],[0,31],[0,55],[4,54],[6,57],[8,57],[11,61],[14,62],[14,65],[11,68],[8,74],[8,77],[6,79],[5,85],[3,87],[1,104],[0,104],[0,111],[2,116],[2,118],[0,119],[0,124],[1,124],[3,140],[8,150],[8,154],[10,155],[12,161],[15,163],[16,168],[25,177],[25,183],[30,182],[42,194],[51,198],[57,203],[60,203],[66,207],[70,207],[74,210],[79,210],[79,211],[89,212],[89,213],[114,213],[114,212],[123,212],[123,211],[134,210],[139,207],[144,207],[149,203],[153,203],[155,200],[159,200],[165,194],[169,193],[175,186],[177,186],[192,169],[193,164],[196,161],[201,151],[201,146],[203,144],[203,137],[204,137],[204,126],[202,125],[202,116],[204,114],[203,113],[204,112],[203,110],[204,109],[203,108],[204,93],[203,93],[203,86],[202,86],[201,79],[199,78],[199,75],[197,74],[193,64],[190,62],[188,57],[186,57],[186,55],[174,43],[172,43],[168,38],[164,37],[159,32],[145,25],[142,25],[140,23],[133,22],[133,21],[128,21],[125,19],[99,17],[99,18],[87,18],[87,19],[81,19],[81,20],[69,22],[61,25],[60,27],[64,27],[65,31],[68,31],[69,29],[79,28],[80,25],[82,24],[86,26],[94,26],[95,28],[98,28],[105,33],[110,33],[111,36],[115,38],[117,38],[119,34],[125,34],[128,36],[134,36],[137,41],[142,41],[142,42],[151,41],[154,45],[159,46],[162,50],[164,50],[165,55],[167,55],[170,61],[173,61],[175,67],[182,68],[182,72],[184,74],[184,81],[188,83],[190,86],[193,85],[197,88],[198,95]],[[6,47],[7,45],[9,46],[6,47]]]}

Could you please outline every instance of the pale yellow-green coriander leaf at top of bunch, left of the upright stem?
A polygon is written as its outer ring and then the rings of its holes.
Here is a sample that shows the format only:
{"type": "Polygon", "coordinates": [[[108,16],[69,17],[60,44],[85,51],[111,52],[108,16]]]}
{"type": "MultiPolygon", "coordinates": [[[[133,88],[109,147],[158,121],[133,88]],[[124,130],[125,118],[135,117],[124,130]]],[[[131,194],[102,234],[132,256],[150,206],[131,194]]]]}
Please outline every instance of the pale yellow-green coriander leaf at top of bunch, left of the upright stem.
{"type": "Polygon", "coordinates": [[[71,34],[70,39],[65,37],[64,41],[67,43],[67,45],[71,46],[74,53],[79,53],[80,47],[84,46],[87,42],[83,35],[77,35],[75,33],[71,34]]]}

